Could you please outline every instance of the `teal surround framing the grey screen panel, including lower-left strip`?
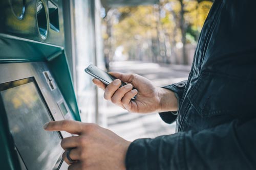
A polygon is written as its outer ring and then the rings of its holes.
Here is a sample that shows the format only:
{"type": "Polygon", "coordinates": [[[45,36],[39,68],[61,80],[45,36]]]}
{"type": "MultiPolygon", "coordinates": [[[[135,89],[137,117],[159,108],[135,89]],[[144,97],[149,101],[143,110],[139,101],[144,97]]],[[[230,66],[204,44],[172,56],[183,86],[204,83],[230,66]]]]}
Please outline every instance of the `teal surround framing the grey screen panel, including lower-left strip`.
{"type": "MultiPolygon", "coordinates": [[[[63,47],[0,34],[0,63],[40,62],[48,64],[52,76],[75,120],[81,121],[69,66],[63,47]],[[4,55],[3,55],[4,54],[4,55]]],[[[1,97],[0,97],[1,102],[1,97]]],[[[4,108],[0,108],[0,166],[1,169],[20,169],[4,108]]]]}

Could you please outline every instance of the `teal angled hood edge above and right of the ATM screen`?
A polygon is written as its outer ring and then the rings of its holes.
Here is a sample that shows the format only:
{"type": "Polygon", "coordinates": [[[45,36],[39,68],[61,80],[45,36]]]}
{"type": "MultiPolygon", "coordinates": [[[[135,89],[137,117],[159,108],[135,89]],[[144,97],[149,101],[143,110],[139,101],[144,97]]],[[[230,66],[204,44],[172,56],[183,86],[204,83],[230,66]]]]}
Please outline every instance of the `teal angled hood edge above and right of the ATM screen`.
{"type": "Polygon", "coordinates": [[[62,47],[19,39],[14,36],[2,36],[0,63],[39,62],[48,63],[53,77],[67,102],[75,120],[81,121],[70,70],[62,47]],[[13,50],[15,49],[15,50],[13,50]]]}

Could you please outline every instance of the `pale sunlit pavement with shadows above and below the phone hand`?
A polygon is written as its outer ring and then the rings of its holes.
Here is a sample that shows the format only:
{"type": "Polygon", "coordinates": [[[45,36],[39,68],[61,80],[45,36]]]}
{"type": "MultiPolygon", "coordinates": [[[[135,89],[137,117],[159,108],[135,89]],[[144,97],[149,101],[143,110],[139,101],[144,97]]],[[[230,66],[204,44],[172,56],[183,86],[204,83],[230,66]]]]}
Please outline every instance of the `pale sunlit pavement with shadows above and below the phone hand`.
{"type": "MultiPolygon", "coordinates": [[[[156,86],[164,86],[186,80],[190,66],[143,63],[137,61],[112,62],[111,71],[136,73],[150,79],[156,86]]],[[[106,111],[108,128],[116,134],[133,141],[137,138],[155,138],[175,133],[175,123],[165,124],[155,114],[128,113],[112,103],[106,111]]]]}

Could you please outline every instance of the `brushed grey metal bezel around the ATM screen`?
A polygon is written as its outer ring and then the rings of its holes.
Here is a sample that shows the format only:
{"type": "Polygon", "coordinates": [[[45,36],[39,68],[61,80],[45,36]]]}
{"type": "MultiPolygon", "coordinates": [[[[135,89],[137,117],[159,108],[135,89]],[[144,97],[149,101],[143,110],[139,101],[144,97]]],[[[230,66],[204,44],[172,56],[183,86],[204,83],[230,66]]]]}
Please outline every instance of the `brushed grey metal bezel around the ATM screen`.
{"type": "MultiPolygon", "coordinates": [[[[49,71],[49,67],[45,62],[2,63],[0,64],[0,84],[33,77],[39,87],[42,98],[44,98],[44,100],[46,101],[46,105],[48,106],[54,120],[73,119],[70,109],[68,108],[66,101],[63,99],[59,88],[57,87],[52,90],[49,87],[48,82],[43,74],[44,71],[49,71]],[[66,115],[62,114],[59,107],[60,103],[64,103],[64,105],[66,106],[66,109],[68,111],[66,115]]],[[[55,80],[52,79],[52,81],[54,82],[55,80]]],[[[71,134],[66,132],[61,132],[61,135],[63,137],[71,136],[71,134]]],[[[60,160],[61,158],[59,159],[58,163],[60,163],[60,160]]],[[[67,165],[63,164],[63,166],[66,167],[67,165]]],[[[25,166],[23,166],[23,168],[24,167],[25,166]]]]}

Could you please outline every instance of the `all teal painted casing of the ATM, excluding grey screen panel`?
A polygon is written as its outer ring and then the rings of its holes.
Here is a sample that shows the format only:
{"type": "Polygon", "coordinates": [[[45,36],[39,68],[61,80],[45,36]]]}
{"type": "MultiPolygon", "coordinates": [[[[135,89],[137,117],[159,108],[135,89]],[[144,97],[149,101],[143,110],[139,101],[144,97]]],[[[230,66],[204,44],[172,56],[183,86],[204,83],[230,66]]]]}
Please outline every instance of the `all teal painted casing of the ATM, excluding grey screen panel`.
{"type": "MultiPolygon", "coordinates": [[[[47,8],[48,1],[41,1],[47,8]]],[[[0,63],[46,62],[72,112],[71,114],[76,120],[80,120],[64,51],[65,31],[62,13],[65,11],[62,11],[62,1],[52,1],[59,9],[58,22],[60,27],[58,32],[50,28],[49,10],[46,10],[48,24],[48,37],[46,39],[42,39],[38,31],[38,21],[40,20],[36,17],[37,2],[35,0],[0,1],[0,63]],[[23,17],[17,18],[13,15],[19,8],[14,6],[13,9],[12,4],[17,4],[17,7],[22,4],[22,7],[25,7],[23,17]]],[[[4,108],[1,107],[0,145],[0,169],[19,170],[21,167],[10,134],[7,116],[4,108]]]]}

